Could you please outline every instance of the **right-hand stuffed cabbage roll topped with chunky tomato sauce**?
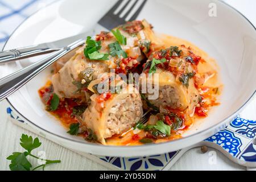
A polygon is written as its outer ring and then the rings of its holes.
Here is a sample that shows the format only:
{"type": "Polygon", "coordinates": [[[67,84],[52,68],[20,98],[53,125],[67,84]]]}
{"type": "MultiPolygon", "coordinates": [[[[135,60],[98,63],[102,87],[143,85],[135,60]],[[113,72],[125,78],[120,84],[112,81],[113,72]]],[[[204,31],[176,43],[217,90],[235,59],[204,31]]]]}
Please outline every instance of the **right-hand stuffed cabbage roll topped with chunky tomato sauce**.
{"type": "Polygon", "coordinates": [[[194,81],[198,63],[199,57],[192,52],[184,57],[178,47],[154,52],[144,65],[146,75],[141,77],[142,80],[152,82],[153,87],[158,84],[158,98],[151,100],[150,94],[146,93],[151,104],[156,107],[167,106],[171,109],[185,110],[187,114],[193,115],[200,101],[200,94],[194,81]],[[149,77],[148,73],[153,75],[149,77]],[[154,74],[158,74],[158,80],[154,80],[154,74]]]}

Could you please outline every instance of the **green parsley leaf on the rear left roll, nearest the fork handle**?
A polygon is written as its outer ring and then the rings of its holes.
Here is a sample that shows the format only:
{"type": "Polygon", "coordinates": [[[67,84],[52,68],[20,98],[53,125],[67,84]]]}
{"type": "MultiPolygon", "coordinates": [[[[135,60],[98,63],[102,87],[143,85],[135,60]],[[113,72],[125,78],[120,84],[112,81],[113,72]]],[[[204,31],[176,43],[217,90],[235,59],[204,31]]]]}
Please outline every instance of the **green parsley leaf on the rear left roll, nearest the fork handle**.
{"type": "Polygon", "coordinates": [[[90,60],[108,60],[108,53],[101,53],[101,41],[92,40],[90,36],[86,39],[86,47],[84,49],[84,55],[90,60]]]}

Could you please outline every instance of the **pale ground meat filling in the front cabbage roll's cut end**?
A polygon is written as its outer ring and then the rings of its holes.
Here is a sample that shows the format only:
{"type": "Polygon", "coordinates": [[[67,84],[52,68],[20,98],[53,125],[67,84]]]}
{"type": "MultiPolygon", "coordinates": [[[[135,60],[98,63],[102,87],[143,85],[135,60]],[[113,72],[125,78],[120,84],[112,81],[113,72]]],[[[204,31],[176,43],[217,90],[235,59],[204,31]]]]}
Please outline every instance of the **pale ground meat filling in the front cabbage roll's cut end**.
{"type": "Polygon", "coordinates": [[[121,134],[135,125],[142,117],[142,102],[137,94],[130,94],[112,107],[106,122],[104,138],[121,134]]]}

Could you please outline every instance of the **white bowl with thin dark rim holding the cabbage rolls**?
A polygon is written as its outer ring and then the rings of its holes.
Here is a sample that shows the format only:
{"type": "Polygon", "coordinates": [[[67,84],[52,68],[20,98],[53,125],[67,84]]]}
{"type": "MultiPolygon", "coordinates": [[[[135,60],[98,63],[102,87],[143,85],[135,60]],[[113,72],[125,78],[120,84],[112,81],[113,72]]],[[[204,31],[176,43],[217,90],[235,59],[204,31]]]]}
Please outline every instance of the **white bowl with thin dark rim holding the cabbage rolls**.
{"type": "MultiPolygon", "coordinates": [[[[52,41],[89,30],[115,1],[58,1],[28,18],[11,36],[5,49],[52,41]],[[72,7],[72,10],[71,10],[72,7]],[[75,10],[75,11],[74,11],[75,10]]],[[[102,146],[72,137],[54,117],[44,110],[38,89],[50,69],[40,73],[8,100],[35,130],[49,135],[56,143],[73,150],[108,156],[162,154],[191,146],[216,133],[230,122],[253,97],[256,89],[255,27],[236,10],[220,1],[150,0],[138,19],[146,18],[156,32],[188,40],[206,51],[220,66],[224,90],[221,105],[213,107],[207,118],[189,129],[183,138],[143,146],[102,146]],[[213,4],[210,4],[212,3],[213,4]],[[209,6],[210,5],[210,6],[209,6]],[[209,7],[216,5],[216,17],[209,7]]],[[[5,74],[38,60],[29,59],[0,67],[5,74]]]]}

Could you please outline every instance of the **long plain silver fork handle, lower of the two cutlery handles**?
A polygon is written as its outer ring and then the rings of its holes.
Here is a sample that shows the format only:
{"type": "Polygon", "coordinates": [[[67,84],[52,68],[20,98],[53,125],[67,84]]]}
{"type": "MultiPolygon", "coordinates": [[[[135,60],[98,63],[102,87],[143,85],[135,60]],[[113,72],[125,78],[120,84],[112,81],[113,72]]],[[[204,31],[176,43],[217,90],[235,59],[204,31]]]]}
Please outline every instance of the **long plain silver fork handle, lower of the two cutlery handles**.
{"type": "Polygon", "coordinates": [[[70,44],[68,47],[60,49],[47,56],[46,58],[31,64],[30,66],[21,69],[9,76],[0,79],[0,101],[8,97],[10,94],[14,93],[32,78],[34,78],[38,73],[42,72],[49,65],[54,63],[60,57],[64,56],[73,49],[84,44],[84,40],[78,40],[75,43],[70,44]]]}

